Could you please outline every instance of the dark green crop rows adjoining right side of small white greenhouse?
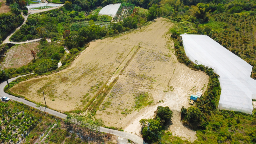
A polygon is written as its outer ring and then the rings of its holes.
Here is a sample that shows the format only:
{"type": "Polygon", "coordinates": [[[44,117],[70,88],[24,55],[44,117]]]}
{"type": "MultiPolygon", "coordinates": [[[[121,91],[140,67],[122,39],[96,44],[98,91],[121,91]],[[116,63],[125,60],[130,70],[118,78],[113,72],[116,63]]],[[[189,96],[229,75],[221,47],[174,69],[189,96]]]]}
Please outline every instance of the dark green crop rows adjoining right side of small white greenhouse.
{"type": "Polygon", "coordinates": [[[116,12],[116,16],[114,17],[114,22],[120,22],[127,16],[131,15],[134,10],[134,4],[130,3],[122,3],[116,12]]]}

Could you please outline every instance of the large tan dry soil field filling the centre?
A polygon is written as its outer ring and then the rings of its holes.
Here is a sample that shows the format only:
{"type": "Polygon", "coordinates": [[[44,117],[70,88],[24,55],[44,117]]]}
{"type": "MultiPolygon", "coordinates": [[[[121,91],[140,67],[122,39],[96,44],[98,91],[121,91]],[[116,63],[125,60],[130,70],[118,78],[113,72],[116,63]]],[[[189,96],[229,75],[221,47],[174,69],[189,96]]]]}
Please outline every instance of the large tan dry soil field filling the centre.
{"type": "Polygon", "coordinates": [[[90,42],[70,68],[21,82],[11,91],[43,104],[44,90],[48,106],[69,111],[91,104],[98,92],[104,92],[104,84],[111,86],[118,79],[96,118],[139,135],[140,119],[152,118],[157,106],[169,106],[174,112],[172,134],[194,141],[196,132],[181,124],[179,111],[189,106],[190,94],[204,92],[208,76],[178,63],[168,33],[172,25],[158,18],[133,32],[90,42]],[[136,101],[142,94],[148,96],[136,101]]]}

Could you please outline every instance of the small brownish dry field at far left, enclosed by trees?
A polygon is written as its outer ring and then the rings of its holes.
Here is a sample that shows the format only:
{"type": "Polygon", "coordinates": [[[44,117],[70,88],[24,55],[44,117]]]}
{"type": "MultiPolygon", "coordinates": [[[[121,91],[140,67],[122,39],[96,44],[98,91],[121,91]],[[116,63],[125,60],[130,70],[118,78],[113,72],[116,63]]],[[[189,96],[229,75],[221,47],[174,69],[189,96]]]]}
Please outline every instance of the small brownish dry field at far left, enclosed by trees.
{"type": "Polygon", "coordinates": [[[17,44],[10,48],[6,57],[4,58],[3,68],[19,68],[32,62],[34,59],[31,55],[31,50],[38,51],[38,42],[31,42],[27,44],[17,44]]]}

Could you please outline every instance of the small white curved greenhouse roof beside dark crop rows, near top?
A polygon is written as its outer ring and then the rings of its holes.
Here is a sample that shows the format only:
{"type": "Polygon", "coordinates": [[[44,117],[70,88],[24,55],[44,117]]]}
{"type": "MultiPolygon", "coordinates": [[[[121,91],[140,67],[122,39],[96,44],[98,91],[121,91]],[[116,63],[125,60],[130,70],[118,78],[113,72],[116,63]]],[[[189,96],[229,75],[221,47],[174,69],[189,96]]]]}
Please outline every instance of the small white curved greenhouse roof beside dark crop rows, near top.
{"type": "Polygon", "coordinates": [[[116,12],[121,4],[109,4],[107,6],[104,6],[99,12],[99,16],[102,15],[108,15],[112,16],[113,18],[116,16],[116,12]]]}

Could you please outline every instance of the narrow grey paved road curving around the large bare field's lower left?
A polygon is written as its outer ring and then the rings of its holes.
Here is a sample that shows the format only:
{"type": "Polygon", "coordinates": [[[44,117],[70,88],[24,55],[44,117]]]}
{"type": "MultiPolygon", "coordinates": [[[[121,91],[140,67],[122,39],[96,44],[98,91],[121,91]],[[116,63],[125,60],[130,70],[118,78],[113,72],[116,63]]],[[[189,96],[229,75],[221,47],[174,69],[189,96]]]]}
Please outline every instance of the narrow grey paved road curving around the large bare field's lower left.
{"type": "MultiPolygon", "coordinates": [[[[26,76],[26,75],[23,75],[23,76],[26,76]]],[[[15,78],[11,78],[11,79],[8,80],[8,82],[10,83],[10,82],[12,82],[13,80],[16,80],[16,79],[19,78],[19,77],[22,77],[22,76],[17,76],[17,77],[15,77],[15,78]]],[[[36,104],[33,103],[33,102],[30,102],[30,101],[28,101],[28,100],[25,100],[24,98],[18,98],[18,97],[16,97],[16,96],[12,96],[12,95],[10,95],[10,94],[6,94],[6,93],[4,92],[4,87],[5,87],[6,85],[7,85],[7,82],[6,82],[6,81],[4,81],[4,82],[2,82],[2,83],[0,84],[0,96],[1,96],[1,97],[2,97],[2,96],[7,96],[7,97],[10,98],[11,100],[15,100],[15,101],[17,101],[17,102],[22,102],[22,103],[24,103],[24,104],[26,104],[26,105],[28,105],[28,106],[31,106],[31,107],[33,107],[33,108],[36,108],[36,109],[40,110],[40,108],[39,108],[39,107],[36,107],[36,104]]],[[[41,110],[44,110],[44,109],[45,109],[44,107],[41,107],[41,110]]],[[[66,114],[62,114],[62,113],[60,113],[60,112],[56,112],[56,111],[51,110],[51,109],[49,109],[49,108],[46,108],[46,109],[45,109],[45,112],[48,112],[49,114],[52,114],[52,115],[54,115],[54,116],[58,116],[58,117],[63,118],[63,119],[65,119],[65,118],[67,117],[66,114]]],[[[106,132],[106,133],[114,134],[114,135],[116,135],[116,136],[121,136],[121,137],[124,137],[124,138],[128,138],[128,139],[132,140],[133,142],[136,142],[137,144],[145,144],[145,143],[143,142],[143,139],[142,139],[142,138],[140,138],[139,136],[137,136],[137,135],[135,135],[135,134],[131,134],[131,133],[128,133],[128,132],[121,132],[121,131],[118,131],[118,130],[112,130],[112,129],[104,128],[104,127],[101,127],[101,126],[100,126],[100,132],[106,132]]]]}

